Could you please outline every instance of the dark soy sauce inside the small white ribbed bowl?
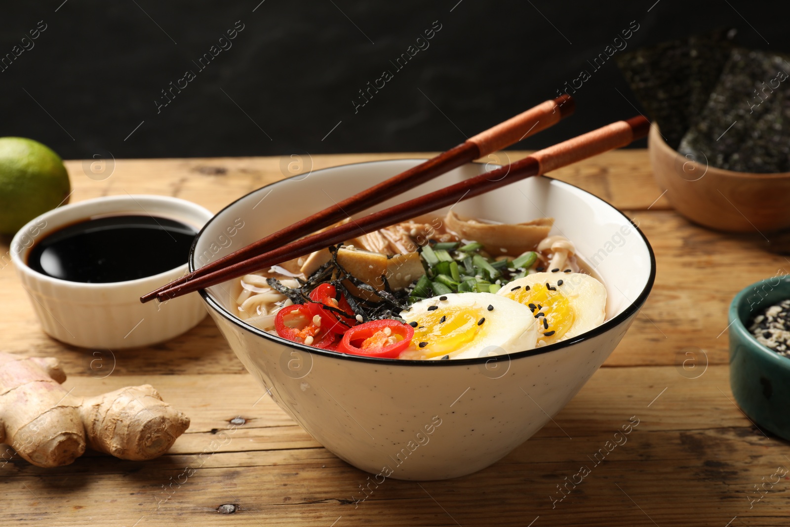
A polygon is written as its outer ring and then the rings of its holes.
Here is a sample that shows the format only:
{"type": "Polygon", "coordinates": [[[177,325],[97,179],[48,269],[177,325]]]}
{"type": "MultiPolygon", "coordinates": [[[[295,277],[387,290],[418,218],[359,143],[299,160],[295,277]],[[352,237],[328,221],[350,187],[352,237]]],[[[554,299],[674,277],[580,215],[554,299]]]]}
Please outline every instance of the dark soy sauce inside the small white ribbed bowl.
{"type": "Polygon", "coordinates": [[[150,277],[186,263],[194,228],[153,216],[108,216],[71,224],[30,251],[47,277],[103,284],[150,277]]]}

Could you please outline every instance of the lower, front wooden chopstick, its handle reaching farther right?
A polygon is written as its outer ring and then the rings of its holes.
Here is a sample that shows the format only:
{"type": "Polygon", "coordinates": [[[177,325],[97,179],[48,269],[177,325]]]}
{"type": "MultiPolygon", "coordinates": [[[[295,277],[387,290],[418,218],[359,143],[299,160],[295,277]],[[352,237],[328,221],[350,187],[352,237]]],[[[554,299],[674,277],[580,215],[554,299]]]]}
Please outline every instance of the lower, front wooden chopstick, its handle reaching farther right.
{"type": "Polygon", "coordinates": [[[258,256],[243,262],[237,262],[224,269],[201,275],[184,284],[175,285],[160,292],[156,297],[160,301],[164,301],[176,296],[186,295],[186,293],[208,288],[225,280],[242,277],[247,273],[253,273],[270,265],[286,262],[314,250],[344,242],[355,236],[389,227],[420,214],[454,205],[459,201],[479,196],[501,186],[510,185],[510,183],[520,181],[529,176],[541,175],[547,171],[564,167],[596,154],[628,145],[631,141],[645,137],[649,128],[650,122],[641,115],[626,121],[612,122],[587,134],[582,134],[568,141],[550,146],[547,149],[539,150],[523,160],[510,164],[510,166],[483,173],[419,198],[404,201],[400,205],[395,205],[389,209],[363,216],[347,224],[298,239],[283,247],[270,250],[265,254],[258,254],[258,256]]]}

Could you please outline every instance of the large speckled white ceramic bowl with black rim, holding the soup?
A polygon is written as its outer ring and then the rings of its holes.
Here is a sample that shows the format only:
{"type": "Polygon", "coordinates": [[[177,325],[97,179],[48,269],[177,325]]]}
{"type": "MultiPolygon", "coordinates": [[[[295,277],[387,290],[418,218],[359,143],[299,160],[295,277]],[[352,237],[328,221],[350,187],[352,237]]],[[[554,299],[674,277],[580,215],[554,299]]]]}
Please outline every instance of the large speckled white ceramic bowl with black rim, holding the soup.
{"type": "MultiPolygon", "coordinates": [[[[240,247],[234,242],[216,253],[211,248],[233,224],[246,225],[235,241],[251,243],[419,162],[328,168],[255,190],[205,225],[190,268],[240,247]]],[[[374,210],[483,170],[481,164],[465,165],[374,210]]],[[[338,457],[375,474],[378,483],[389,476],[463,476],[529,439],[615,349],[653,286],[656,262],[645,236],[623,213],[575,186],[530,178],[462,201],[453,210],[509,223],[555,217],[553,233],[573,240],[604,279],[607,322],[579,337],[510,356],[371,359],[309,348],[245,324],[231,314],[228,283],[201,292],[231,348],[280,407],[338,457]]]]}

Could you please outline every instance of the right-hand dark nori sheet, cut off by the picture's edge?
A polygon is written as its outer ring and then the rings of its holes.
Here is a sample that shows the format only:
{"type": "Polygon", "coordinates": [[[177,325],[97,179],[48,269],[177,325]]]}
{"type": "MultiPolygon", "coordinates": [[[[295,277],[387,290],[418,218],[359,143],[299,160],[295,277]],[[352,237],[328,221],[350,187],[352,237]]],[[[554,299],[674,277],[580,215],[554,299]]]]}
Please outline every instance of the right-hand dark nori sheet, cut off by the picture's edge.
{"type": "Polygon", "coordinates": [[[790,57],[734,48],[678,151],[713,167],[790,171],[790,57]]]}

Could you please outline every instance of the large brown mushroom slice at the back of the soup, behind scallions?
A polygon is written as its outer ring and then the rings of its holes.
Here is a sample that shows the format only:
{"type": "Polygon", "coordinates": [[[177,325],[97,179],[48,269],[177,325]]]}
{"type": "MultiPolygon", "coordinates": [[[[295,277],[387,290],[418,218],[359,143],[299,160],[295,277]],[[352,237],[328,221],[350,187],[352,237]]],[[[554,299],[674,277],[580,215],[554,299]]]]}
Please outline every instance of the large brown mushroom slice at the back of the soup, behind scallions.
{"type": "Polygon", "coordinates": [[[462,219],[450,211],[445,217],[445,224],[461,239],[482,243],[489,254],[521,254],[535,250],[551,231],[554,218],[538,218],[521,224],[483,224],[462,219]]]}

